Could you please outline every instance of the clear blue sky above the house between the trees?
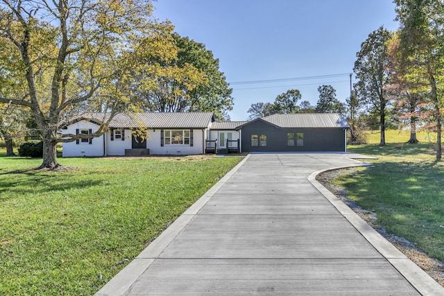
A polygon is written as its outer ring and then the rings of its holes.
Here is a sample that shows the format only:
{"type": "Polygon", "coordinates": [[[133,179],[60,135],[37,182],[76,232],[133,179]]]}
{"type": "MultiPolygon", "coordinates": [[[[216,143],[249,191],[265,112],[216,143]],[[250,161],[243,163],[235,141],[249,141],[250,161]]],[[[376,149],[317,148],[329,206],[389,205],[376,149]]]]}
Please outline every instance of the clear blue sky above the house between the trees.
{"type": "Polygon", "coordinates": [[[318,86],[332,85],[345,102],[361,43],[379,26],[398,28],[391,0],[157,0],[154,7],[154,17],[219,58],[233,88],[232,121],[289,89],[316,105],[318,86]]]}

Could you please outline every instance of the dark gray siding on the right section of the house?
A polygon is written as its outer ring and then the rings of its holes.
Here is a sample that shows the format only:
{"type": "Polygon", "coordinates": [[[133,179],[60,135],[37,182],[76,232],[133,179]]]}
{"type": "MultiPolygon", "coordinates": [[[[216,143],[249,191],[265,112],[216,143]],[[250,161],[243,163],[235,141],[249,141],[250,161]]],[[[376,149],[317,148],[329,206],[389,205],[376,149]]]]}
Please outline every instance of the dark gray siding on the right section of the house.
{"type": "Polygon", "coordinates": [[[279,128],[264,121],[254,121],[242,127],[243,152],[327,152],[345,151],[343,128],[279,128]],[[295,136],[294,146],[289,146],[287,134],[295,136]],[[297,134],[302,133],[303,146],[297,145],[297,134]],[[266,146],[252,146],[251,135],[266,136],[266,146]]]}

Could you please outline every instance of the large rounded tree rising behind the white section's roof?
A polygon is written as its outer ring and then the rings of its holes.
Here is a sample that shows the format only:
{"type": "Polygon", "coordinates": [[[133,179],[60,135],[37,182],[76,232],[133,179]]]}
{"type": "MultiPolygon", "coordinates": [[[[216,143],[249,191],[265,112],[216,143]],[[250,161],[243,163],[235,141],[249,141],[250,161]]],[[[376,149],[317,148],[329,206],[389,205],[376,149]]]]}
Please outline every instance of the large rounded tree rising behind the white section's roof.
{"type": "MultiPolygon", "coordinates": [[[[232,89],[219,70],[219,60],[205,49],[205,44],[177,33],[172,37],[178,47],[177,58],[162,63],[163,71],[142,71],[134,81],[146,110],[214,112],[217,119],[224,119],[226,112],[232,110],[232,89]],[[156,86],[145,89],[140,82],[146,78],[155,80],[156,86]]],[[[157,61],[146,61],[148,64],[153,62],[157,61]]]]}

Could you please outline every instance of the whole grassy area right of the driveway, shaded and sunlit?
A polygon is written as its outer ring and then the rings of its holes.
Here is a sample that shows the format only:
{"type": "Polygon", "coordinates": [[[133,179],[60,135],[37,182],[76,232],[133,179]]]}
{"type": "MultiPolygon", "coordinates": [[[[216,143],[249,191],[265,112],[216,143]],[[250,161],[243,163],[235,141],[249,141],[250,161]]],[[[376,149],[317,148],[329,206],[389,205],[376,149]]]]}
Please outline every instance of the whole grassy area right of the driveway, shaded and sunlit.
{"type": "Polygon", "coordinates": [[[377,157],[370,168],[350,170],[334,183],[348,189],[360,207],[377,214],[388,232],[407,238],[420,250],[444,261],[444,162],[436,160],[435,145],[420,133],[419,144],[407,144],[409,132],[389,130],[386,146],[379,132],[370,143],[348,151],[377,157]]]}

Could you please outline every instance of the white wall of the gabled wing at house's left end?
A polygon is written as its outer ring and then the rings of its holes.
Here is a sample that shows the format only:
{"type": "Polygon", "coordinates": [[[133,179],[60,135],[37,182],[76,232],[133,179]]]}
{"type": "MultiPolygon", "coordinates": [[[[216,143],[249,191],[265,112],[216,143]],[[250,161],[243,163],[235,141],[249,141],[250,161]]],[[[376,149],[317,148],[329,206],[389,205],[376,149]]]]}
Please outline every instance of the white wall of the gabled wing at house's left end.
{"type": "MultiPolygon", "coordinates": [[[[76,134],[78,130],[89,130],[95,132],[99,128],[99,125],[89,121],[79,121],[68,126],[67,130],[62,130],[63,133],[76,134]]],[[[79,157],[79,156],[103,156],[103,136],[92,139],[92,143],[82,143],[76,141],[69,143],[62,143],[62,156],[63,157],[79,157]]]]}

